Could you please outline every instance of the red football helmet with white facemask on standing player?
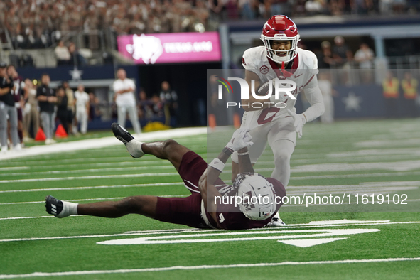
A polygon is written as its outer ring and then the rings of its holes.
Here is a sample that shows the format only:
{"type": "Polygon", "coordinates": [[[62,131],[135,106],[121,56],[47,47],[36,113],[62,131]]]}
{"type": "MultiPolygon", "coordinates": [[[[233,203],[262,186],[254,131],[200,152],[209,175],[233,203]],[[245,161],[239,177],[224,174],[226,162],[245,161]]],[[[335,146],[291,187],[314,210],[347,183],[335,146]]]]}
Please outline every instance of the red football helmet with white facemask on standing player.
{"type": "Polygon", "coordinates": [[[276,63],[287,63],[298,55],[296,51],[300,40],[298,28],[287,16],[271,16],[262,28],[261,40],[264,42],[267,56],[276,63]],[[284,56],[277,55],[279,50],[271,48],[271,43],[274,40],[290,41],[291,49],[281,50],[281,53],[286,53],[284,56]]]}

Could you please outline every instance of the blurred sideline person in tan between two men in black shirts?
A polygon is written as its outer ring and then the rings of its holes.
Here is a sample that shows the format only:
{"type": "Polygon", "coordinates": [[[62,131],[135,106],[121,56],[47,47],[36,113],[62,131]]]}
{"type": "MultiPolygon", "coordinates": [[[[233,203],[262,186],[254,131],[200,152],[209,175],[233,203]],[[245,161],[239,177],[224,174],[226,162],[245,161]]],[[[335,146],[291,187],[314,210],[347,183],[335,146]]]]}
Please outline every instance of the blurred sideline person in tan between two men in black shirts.
{"type": "Polygon", "coordinates": [[[25,126],[26,139],[35,138],[39,128],[39,113],[38,101],[36,100],[36,89],[33,82],[29,79],[25,80],[25,95],[23,98],[26,100],[23,125],[25,126]],[[32,124],[32,134],[31,131],[32,124]]]}

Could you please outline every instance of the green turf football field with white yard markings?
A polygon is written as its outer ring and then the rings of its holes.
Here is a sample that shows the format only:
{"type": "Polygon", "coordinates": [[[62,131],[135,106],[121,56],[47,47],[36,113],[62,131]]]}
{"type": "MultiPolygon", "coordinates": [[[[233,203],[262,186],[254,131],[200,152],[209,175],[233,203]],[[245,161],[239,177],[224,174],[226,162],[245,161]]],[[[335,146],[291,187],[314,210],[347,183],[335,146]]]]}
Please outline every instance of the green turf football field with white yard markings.
{"type": "MultiPolygon", "coordinates": [[[[0,161],[0,279],[420,279],[419,128],[419,119],[307,124],[291,158],[288,195],[406,194],[406,205],[284,205],[286,227],[239,232],[45,212],[45,195],[188,195],[170,163],[135,160],[122,144],[0,161]],[[97,244],[117,239],[138,244],[97,244]]],[[[211,160],[232,131],[176,140],[211,160]]],[[[256,171],[272,166],[266,149],[256,171]]]]}

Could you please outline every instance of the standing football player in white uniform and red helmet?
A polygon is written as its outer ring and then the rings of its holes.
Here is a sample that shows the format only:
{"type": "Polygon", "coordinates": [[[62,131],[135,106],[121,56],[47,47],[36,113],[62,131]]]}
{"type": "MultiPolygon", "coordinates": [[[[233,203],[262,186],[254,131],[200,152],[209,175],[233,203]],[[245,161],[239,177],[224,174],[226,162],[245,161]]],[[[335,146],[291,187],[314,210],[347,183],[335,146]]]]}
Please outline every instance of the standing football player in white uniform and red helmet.
{"type": "MultiPolygon", "coordinates": [[[[249,99],[242,99],[244,117],[242,127],[251,129],[254,145],[249,147],[251,162],[257,163],[268,143],[274,154],[272,178],[279,180],[285,187],[290,179],[290,158],[296,144],[296,132],[301,138],[302,127],[306,122],[321,116],[324,112],[323,97],[318,87],[316,74],[318,60],[309,50],[298,48],[299,34],[296,24],[287,16],[272,16],[262,29],[261,39],[264,46],[245,50],[242,65],[245,68],[245,80],[249,85],[249,99]],[[284,102],[286,107],[277,108],[268,102],[263,107],[253,108],[253,102],[262,102],[251,94],[252,80],[255,92],[266,82],[279,78],[296,82],[296,89],[291,92],[296,97],[302,90],[311,103],[302,114],[296,114],[296,100],[280,92],[279,99],[271,102],[284,102]]],[[[264,91],[264,90],[262,90],[264,91]]],[[[266,95],[266,92],[260,92],[266,95]]],[[[274,93],[274,92],[273,92],[274,93]]],[[[265,100],[266,101],[266,100],[265,100]]],[[[264,101],[264,102],[265,102],[264,101]]],[[[261,104],[261,103],[260,103],[261,104]]],[[[232,155],[232,181],[238,173],[238,156],[232,155]]]]}

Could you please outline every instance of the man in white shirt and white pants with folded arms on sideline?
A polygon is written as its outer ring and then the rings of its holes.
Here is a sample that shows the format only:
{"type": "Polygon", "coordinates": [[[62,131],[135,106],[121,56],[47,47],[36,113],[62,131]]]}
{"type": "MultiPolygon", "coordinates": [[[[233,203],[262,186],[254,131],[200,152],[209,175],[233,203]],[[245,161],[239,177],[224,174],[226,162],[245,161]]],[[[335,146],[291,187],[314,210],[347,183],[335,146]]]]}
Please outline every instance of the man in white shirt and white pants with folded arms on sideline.
{"type": "Polygon", "coordinates": [[[126,114],[129,113],[134,132],[139,135],[141,128],[137,115],[136,99],[134,97],[136,85],[133,80],[126,78],[126,72],[122,68],[119,68],[117,71],[117,77],[118,80],[114,82],[114,98],[117,104],[118,124],[125,127],[126,114]]]}

